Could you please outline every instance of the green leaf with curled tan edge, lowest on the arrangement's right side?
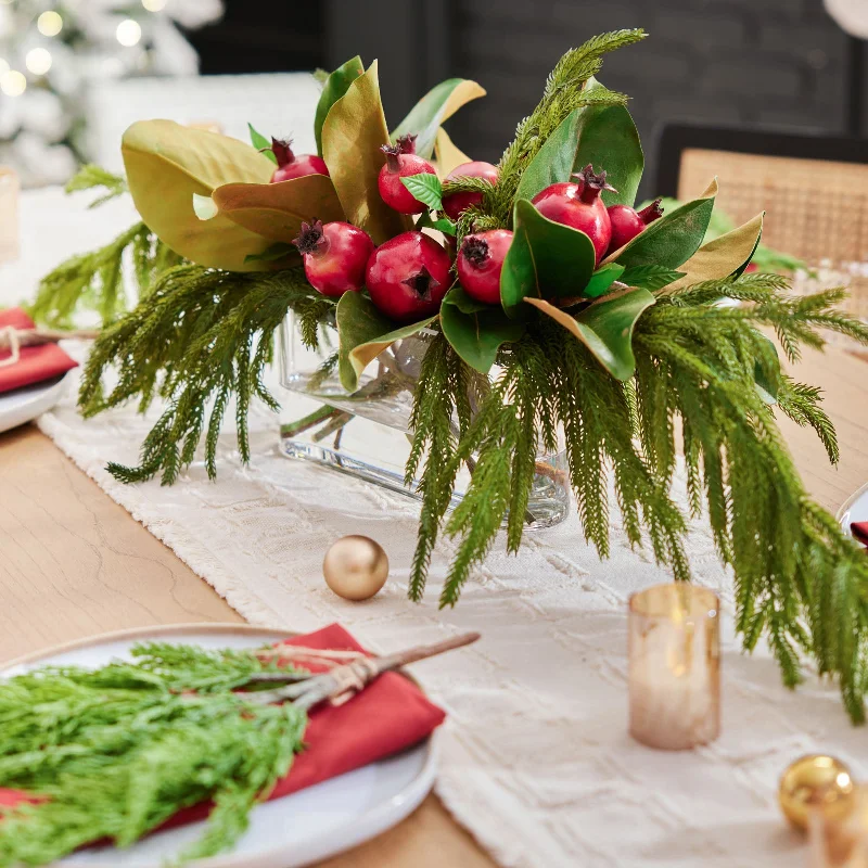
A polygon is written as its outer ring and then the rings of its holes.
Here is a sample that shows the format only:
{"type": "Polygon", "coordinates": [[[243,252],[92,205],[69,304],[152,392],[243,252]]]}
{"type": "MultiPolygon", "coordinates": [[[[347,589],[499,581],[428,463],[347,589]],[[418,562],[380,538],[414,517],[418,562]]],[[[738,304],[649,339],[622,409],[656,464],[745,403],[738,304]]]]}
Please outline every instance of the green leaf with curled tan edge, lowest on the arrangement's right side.
{"type": "Polygon", "coordinates": [[[633,376],[636,370],[633,330],[642,312],[654,304],[654,296],[648,290],[628,289],[612,293],[576,317],[541,298],[524,301],[572,332],[616,380],[633,376]]]}

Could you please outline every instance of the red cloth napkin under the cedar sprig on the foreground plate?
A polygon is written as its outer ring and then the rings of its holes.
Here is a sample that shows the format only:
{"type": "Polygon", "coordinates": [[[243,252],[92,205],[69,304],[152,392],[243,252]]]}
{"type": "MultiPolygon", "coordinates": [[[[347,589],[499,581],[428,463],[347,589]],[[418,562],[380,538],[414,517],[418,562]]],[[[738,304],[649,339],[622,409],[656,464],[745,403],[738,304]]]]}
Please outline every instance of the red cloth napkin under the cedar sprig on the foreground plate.
{"type": "MultiPolygon", "coordinates": [[[[293,637],[285,644],[365,651],[340,624],[293,637]]],[[[312,665],[307,668],[316,669],[312,665]]],[[[305,731],[307,748],[295,757],[290,774],[278,781],[269,800],[398,753],[430,736],[445,717],[412,681],[394,672],[384,673],[343,705],[326,704],[311,712],[305,731]]],[[[0,789],[0,805],[14,805],[25,797],[0,789]]],[[[203,819],[209,810],[210,804],[184,808],[163,828],[203,819]]]]}

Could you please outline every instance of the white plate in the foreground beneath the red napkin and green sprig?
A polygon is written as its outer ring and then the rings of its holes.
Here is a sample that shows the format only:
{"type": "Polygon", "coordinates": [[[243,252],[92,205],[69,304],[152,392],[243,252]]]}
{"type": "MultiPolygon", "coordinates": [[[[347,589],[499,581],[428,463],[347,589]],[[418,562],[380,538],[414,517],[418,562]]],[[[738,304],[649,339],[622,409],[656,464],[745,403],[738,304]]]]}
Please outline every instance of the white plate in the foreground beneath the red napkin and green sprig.
{"type": "MultiPolygon", "coordinates": [[[[148,627],[108,634],[12,661],[0,669],[16,675],[47,663],[95,667],[129,658],[142,641],[195,643],[205,648],[257,648],[288,631],[244,624],[148,627]]],[[[283,799],[257,805],[251,825],[230,853],[192,863],[196,868],[301,868],[357,846],[400,822],[434,784],[433,738],[396,756],[283,799]]],[[[204,821],[149,835],[131,847],[90,847],[55,868],[163,868],[202,833],[204,821]]]]}

